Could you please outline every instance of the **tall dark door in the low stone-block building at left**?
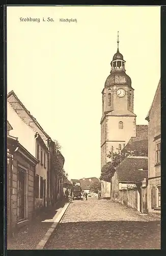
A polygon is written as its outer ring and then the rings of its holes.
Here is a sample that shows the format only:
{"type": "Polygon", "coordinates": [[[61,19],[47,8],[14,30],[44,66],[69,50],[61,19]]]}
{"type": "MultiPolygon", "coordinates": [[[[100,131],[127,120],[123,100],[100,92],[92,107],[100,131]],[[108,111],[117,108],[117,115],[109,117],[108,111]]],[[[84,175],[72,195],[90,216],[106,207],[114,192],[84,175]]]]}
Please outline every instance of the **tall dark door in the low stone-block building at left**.
{"type": "Polygon", "coordinates": [[[26,174],[18,170],[18,222],[26,218],[26,174]]]}

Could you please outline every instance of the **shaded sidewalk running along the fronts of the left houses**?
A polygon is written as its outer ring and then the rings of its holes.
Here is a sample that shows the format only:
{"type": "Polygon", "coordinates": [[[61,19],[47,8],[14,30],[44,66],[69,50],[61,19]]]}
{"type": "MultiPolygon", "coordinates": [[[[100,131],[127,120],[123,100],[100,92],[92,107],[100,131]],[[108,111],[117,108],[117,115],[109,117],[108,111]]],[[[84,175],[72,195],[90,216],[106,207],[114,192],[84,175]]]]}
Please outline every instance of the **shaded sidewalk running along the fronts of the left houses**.
{"type": "Polygon", "coordinates": [[[15,233],[14,238],[8,239],[8,250],[35,249],[52,225],[52,219],[57,215],[58,209],[63,208],[65,203],[67,201],[63,200],[55,206],[49,206],[38,217],[22,227],[18,233],[15,233]]]}

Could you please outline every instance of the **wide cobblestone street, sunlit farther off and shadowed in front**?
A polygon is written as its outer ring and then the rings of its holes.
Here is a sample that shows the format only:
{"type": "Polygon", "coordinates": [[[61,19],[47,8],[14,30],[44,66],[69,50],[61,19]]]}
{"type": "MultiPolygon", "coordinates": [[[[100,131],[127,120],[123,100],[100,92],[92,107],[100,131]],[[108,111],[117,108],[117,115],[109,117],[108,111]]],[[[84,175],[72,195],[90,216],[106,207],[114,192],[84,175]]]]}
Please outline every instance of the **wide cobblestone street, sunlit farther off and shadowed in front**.
{"type": "Polygon", "coordinates": [[[74,200],[45,249],[160,249],[160,221],[109,200],[74,200]]]}

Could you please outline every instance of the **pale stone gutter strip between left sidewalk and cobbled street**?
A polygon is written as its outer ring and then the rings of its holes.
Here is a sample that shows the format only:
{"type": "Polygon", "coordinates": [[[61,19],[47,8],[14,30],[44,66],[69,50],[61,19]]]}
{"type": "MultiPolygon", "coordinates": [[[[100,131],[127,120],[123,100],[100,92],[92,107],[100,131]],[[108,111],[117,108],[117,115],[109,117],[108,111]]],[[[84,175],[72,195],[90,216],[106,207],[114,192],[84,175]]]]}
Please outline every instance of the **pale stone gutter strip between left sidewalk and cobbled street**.
{"type": "Polygon", "coordinates": [[[58,215],[56,214],[53,217],[53,224],[49,227],[49,229],[46,232],[46,234],[44,235],[43,239],[36,246],[36,248],[35,248],[36,250],[42,250],[44,248],[44,246],[47,243],[48,239],[50,238],[52,232],[54,231],[54,229],[57,227],[58,223],[61,221],[62,217],[64,216],[70,203],[71,203],[71,201],[66,203],[64,205],[64,207],[61,209],[61,211],[59,212],[59,214],[58,215]]]}

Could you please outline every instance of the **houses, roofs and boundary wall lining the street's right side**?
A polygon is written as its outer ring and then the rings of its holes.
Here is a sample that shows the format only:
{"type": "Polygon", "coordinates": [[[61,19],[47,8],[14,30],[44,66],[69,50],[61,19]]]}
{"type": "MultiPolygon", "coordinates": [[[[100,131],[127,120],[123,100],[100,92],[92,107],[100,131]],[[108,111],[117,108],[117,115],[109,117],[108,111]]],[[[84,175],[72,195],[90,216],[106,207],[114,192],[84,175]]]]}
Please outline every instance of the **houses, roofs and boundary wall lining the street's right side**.
{"type": "Polygon", "coordinates": [[[114,168],[110,181],[101,181],[103,198],[148,214],[160,214],[161,208],[160,86],[159,81],[146,117],[148,125],[136,125],[136,136],[120,151],[125,157],[114,168]]]}

